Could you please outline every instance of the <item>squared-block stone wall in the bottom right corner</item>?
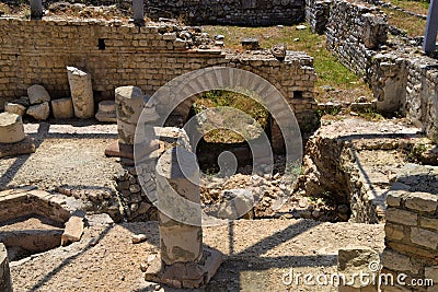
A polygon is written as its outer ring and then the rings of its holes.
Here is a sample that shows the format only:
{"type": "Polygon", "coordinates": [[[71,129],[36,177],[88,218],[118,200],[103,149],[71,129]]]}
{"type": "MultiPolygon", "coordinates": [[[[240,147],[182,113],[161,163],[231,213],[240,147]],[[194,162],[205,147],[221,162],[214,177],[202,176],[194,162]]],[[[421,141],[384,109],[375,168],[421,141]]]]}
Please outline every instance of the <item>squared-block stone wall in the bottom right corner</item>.
{"type": "MultiPolygon", "coordinates": [[[[383,271],[438,282],[438,167],[406,165],[388,194],[383,271]]],[[[396,279],[396,278],[394,278],[396,279]]],[[[436,288],[382,285],[382,291],[436,291],[436,288]],[[399,290],[402,289],[402,290],[399,290]]]]}

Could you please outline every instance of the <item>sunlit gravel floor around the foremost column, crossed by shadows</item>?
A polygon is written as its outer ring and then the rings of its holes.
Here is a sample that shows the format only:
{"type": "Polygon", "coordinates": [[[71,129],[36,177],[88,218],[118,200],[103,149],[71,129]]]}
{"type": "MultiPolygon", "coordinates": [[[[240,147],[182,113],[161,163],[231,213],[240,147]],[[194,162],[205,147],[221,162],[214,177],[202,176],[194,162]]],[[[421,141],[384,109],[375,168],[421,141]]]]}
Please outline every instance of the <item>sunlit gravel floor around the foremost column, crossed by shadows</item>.
{"type": "MultiPolygon", "coordinates": [[[[174,291],[142,280],[141,261],[158,252],[158,225],[90,222],[79,243],[11,262],[14,291],[174,291]],[[132,244],[132,234],[147,242],[132,244]]],[[[337,250],[369,246],[382,252],[383,225],[313,220],[235,221],[204,229],[204,243],[226,260],[207,288],[197,291],[336,291],[285,285],[293,272],[334,273],[337,250]]]]}

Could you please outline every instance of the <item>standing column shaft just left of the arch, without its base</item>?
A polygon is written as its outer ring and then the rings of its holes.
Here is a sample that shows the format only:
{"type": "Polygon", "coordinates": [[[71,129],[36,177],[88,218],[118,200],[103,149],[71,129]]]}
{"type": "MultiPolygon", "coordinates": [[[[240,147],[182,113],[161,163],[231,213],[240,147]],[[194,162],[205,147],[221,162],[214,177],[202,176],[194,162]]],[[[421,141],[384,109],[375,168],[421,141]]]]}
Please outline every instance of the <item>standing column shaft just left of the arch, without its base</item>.
{"type": "Polygon", "coordinates": [[[134,145],[138,119],[145,107],[143,93],[136,86],[122,86],[115,91],[118,142],[134,145]]]}

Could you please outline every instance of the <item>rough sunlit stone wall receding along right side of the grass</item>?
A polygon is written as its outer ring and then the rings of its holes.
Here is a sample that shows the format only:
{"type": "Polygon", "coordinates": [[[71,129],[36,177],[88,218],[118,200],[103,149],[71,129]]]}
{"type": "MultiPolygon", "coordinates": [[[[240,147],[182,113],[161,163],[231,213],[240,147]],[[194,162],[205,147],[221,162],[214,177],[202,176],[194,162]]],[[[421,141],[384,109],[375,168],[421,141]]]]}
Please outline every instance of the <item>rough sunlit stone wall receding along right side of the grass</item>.
{"type": "Polygon", "coordinates": [[[326,46],[356,74],[366,78],[372,56],[388,38],[387,15],[377,7],[336,0],[330,10],[326,46]]]}

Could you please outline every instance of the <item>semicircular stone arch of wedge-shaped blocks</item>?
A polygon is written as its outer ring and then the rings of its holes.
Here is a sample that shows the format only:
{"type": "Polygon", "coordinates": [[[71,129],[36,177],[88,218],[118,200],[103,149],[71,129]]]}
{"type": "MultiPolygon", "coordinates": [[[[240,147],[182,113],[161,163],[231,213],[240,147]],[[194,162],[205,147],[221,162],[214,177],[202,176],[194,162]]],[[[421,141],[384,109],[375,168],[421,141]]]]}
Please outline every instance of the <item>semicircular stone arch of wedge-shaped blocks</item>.
{"type": "Polygon", "coordinates": [[[287,154],[293,152],[293,161],[300,160],[302,154],[301,133],[286,97],[273,83],[246,70],[209,67],[170,81],[151,97],[151,103],[157,106],[157,112],[162,119],[160,125],[164,125],[166,118],[176,108],[176,113],[187,117],[193,104],[193,96],[211,90],[255,94],[255,96],[247,94],[246,96],[255,97],[258,103],[265,106],[283,135],[283,137],[273,137],[273,149],[277,151],[285,147],[287,154]],[[288,142],[285,143],[286,141],[288,142]]]}

